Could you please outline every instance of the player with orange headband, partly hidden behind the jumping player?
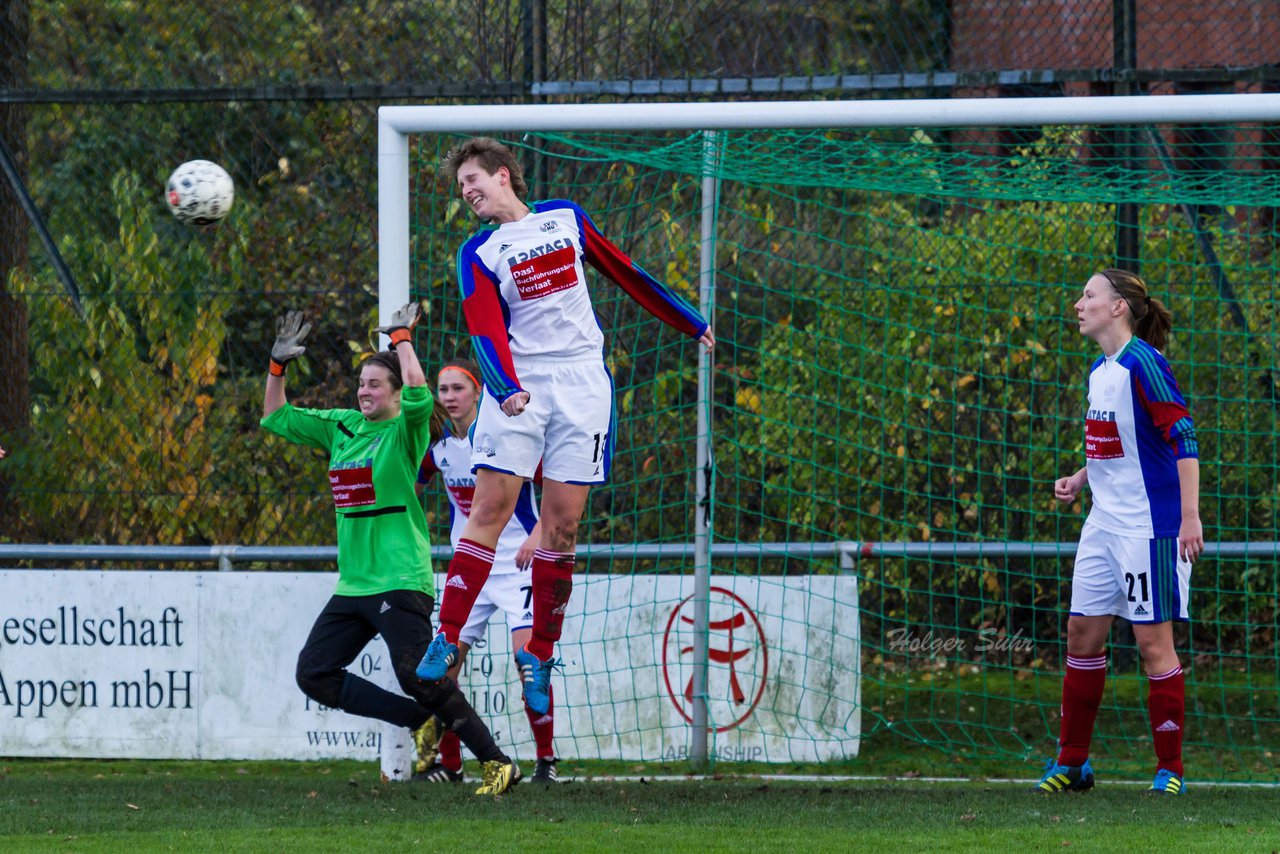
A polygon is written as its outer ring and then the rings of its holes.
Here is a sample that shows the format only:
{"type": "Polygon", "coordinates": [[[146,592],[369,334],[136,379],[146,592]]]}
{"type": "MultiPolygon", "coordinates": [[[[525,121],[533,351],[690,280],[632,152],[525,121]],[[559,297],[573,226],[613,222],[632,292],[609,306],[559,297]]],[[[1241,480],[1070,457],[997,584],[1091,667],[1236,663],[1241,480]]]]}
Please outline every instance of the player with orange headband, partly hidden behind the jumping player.
{"type": "MultiPolygon", "coordinates": [[[[436,405],[444,410],[448,421],[444,435],[431,446],[419,472],[419,488],[429,484],[435,475],[440,476],[449,498],[449,538],[457,548],[462,531],[471,513],[471,501],[475,495],[475,475],[471,472],[471,425],[475,424],[480,407],[480,366],[466,359],[449,361],[440,369],[436,379],[436,405]]],[[[516,511],[511,521],[502,529],[495,558],[489,579],[471,608],[462,631],[458,634],[458,658],[449,667],[449,679],[458,681],[467,653],[485,635],[489,620],[499,611],[506,615],[507,629],[511,631],[511,649],[525,645],[532,635],[534,615],[532,584],[529,579],[529,565],[534,560],[538,545],[538,502],[534,495],[534,480],[526,480],[516,498],[516,511]]],[[[525,703],[525,717],[534,734],[538,766],[532,781],[552,784],[557,781],[554,737],[554,702],[545,713],[535,712],[525,703]]],[[[462,780],[462,752],[458,736],[443,731],[439,740],[439,759],[422,768],[417,778],[429,782],[458,782],[462,780]]]]}

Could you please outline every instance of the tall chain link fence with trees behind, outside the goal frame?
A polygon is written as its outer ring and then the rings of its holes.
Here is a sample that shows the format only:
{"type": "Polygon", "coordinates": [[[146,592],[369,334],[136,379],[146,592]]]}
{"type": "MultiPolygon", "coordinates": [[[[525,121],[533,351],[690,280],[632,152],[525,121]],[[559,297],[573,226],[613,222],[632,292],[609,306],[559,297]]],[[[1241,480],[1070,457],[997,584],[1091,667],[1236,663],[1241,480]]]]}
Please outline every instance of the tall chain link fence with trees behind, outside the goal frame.
{"type": "Polygon", "coordinates": [[[332,540],[323,460],[256,423],[287,307],[293,402],[375,346],[383,104],[1258,91],[1277,55],[1263,0],[3,0],[0,539],[332,540]],[[193,157],[219,227],[165,209],[193,157]]]}

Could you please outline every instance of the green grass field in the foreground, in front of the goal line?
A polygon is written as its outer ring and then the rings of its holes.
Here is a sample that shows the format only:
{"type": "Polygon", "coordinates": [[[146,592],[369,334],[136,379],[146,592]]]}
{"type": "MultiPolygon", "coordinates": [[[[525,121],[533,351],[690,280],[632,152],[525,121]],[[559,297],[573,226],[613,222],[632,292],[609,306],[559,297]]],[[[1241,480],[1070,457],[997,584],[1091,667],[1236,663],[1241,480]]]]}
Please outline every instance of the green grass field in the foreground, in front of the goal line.
{"type": "MultiPolygon", "coordinates": [[[[572,772],[572,768],[568,768],[572,772]]],[[[1181,798],[759,777],[384,784],[356,762],[0,762],[3,851],[946,851],[1280,849],[1275,789],[1181,798]]]]}

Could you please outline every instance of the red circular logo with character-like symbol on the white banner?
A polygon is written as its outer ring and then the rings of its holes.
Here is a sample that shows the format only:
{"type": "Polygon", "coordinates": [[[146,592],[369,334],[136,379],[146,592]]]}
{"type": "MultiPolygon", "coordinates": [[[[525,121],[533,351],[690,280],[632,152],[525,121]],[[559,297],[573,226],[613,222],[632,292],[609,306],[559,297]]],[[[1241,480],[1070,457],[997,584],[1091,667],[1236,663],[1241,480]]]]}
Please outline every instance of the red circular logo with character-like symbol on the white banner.
{"type": "MultiPolygon", "coordinates": [[[[724,588],[710,589],[710,631],[707,703],[712,721],[726,732],[751,717],[769,675],[769,648],[755,612],[724,588]]],[[[667,695],[680,714],[692,723],[694,699],[694,598],[672,609],[662,643],[662,675],[667,695]],[[677,688],[678,686],[678,688],[677,688]]]]}

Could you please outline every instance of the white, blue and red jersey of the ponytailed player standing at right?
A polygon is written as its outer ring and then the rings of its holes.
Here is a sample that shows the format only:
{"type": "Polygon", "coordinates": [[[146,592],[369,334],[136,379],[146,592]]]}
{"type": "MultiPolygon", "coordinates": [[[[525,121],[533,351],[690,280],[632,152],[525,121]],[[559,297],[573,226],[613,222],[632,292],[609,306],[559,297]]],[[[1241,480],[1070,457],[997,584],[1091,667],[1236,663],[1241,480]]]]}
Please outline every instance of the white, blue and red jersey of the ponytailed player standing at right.
{"type": "Polygon", "coordinates": [[[1169,362],[1134,335],[1093,362],[1084,456],[1089,521],[1112,534],[1176,536],[1181,526],[1178,461],[1198,456],[1196,428],[1169,362]]]}

